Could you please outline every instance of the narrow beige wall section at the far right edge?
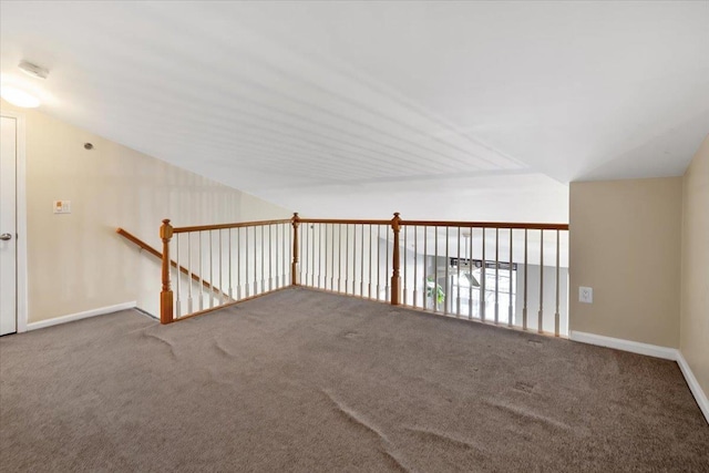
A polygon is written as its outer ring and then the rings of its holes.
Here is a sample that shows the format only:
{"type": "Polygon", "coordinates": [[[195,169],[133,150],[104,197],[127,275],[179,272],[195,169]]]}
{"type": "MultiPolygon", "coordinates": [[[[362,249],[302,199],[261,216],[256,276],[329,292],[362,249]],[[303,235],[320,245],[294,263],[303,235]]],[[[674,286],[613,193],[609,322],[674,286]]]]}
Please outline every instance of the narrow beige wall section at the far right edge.
{"type": "Polygon", "coordinates": [[[679,349],[709,394],[709,136],[684,178],[679,349]]]}

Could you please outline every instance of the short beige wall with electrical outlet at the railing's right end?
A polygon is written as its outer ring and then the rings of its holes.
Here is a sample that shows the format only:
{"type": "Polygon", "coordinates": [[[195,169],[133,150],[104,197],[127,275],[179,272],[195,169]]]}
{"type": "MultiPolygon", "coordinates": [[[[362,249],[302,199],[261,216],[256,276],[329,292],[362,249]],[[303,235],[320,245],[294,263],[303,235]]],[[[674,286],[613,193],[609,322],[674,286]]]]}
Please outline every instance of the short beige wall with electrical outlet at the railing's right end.
{"type": "Polygon", "coordinates": [[[681,177],[571,184],[572,331],[679,347],[681,212],[681,177]]]}

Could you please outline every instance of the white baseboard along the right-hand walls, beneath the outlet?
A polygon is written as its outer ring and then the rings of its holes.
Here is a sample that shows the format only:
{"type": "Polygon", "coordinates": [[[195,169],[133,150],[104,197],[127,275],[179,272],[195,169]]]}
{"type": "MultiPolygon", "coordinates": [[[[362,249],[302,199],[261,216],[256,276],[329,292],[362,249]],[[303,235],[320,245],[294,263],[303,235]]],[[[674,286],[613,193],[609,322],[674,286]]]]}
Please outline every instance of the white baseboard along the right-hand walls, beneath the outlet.
{"type": "Polygon", "coordinates": [[[682,356],[681,351],[676,348],[659,347],[657,345],[640,343],[639,341],[623,340],[620,338],[604,337],[602,335],[586,333],[572,330],[568,338],[582,343],[597,345],[599,347],[615,348],[616,350],[629,351],[631,353],[646,354],[648,357],[661,358],[665,360],[672,360],[679,364],[679,369],[685,377],[685,381],[689,385],[697,404],[701,413],[705,414],[707,423],[709,423],[709,399],[707,394],[699,385],[699,381],[695,377],[695,373],[689,368],[687,360],[682,356]]]}

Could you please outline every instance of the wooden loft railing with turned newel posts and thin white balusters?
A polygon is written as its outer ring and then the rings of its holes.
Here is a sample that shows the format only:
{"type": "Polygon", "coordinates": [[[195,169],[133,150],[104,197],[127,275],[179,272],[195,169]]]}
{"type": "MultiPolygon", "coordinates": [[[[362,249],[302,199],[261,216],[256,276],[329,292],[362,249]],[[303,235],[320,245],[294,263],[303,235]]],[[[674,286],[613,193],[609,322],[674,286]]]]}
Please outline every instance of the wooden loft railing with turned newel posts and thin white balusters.
{"type": "Polygon", "coordinates": [[[403,220],[399,214],[387,220],[294,214],[290,219],[175,228],[163,220],[161,321],[304,286],[565,335],[567,235],[565,224],[403,220]],[[181,271],[171,269],[171,246],[181,271]],[[182,277],[173,295],[173,273],[187,276],[186,298],[182,277]],[[193,281],[204,285],[196,274],[208,274],[224,291],[212,291],[205,301],[201,289],[195,305],[193,281]],[[545,307],[549,300],[551,308],[545,307]]]}

